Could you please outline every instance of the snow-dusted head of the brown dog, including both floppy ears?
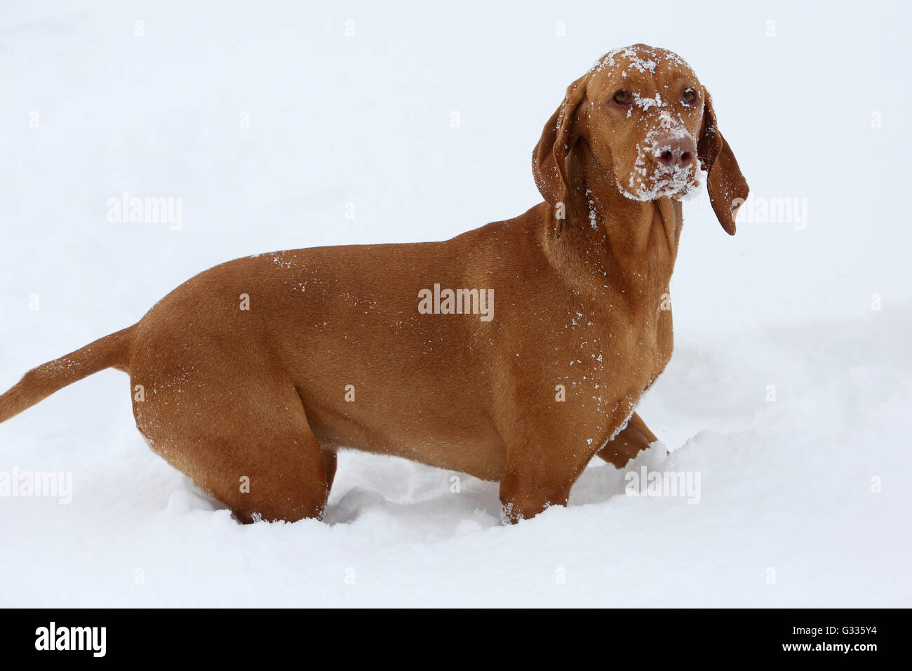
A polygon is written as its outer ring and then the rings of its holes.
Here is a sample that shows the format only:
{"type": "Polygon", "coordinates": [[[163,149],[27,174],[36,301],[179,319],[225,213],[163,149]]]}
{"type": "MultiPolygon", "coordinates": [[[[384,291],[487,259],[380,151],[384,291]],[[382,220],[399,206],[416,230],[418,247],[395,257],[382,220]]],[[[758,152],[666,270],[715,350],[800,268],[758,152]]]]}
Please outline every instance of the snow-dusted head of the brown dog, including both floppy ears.
{"type": "Polygon", "coordinates": [[[709,92],[677,54],[646,45],[616,49],[567,88],[533,153],[535,183],[549,203],[586,199],[567,178],[578,142],[614,173],[622,194],[638,201],[686,198],[700,187],[700,169],[706,171],[712,208],[734,235],[748,185],[709,92]]]}

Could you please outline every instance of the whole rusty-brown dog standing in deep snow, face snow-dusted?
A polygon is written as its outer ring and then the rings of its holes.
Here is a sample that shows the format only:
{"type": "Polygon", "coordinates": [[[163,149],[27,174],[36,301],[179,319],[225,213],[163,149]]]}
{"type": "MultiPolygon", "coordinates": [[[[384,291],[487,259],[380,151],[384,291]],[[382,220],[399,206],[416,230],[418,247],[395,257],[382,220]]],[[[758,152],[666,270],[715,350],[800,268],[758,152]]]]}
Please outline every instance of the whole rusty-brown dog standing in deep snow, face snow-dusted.
{"type": "Polygon", "coordinates": [[[565,505],[671,356],[679,199],[722,227],[748,187],[709,93],[664,49],[601,58],[544,124],[544,203],[446,242],[330,246],[213,267],[139,323],[27,372],[0,421],[130,373],[151,448],[238,519],[319,517],[350,447],[499,480],[504,518],[565,505]]]}

